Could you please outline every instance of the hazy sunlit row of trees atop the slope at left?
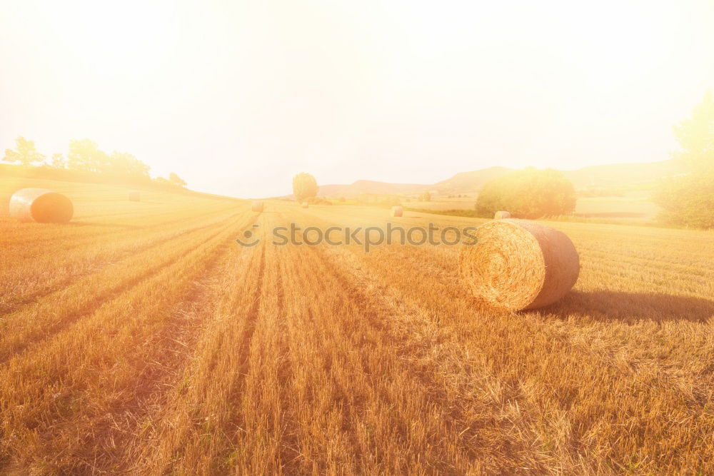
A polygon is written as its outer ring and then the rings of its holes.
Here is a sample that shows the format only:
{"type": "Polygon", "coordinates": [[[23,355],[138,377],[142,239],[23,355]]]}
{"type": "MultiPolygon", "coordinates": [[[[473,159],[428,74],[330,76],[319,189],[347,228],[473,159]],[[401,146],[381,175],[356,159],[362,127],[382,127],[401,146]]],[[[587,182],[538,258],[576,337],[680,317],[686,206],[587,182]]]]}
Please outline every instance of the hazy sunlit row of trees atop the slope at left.
{"type": "MultiPolygon", "coordinates": [[[[18,137],[15,141],[15,149],[5,149],[5,156],[2,160],[19,163],[21,166],[39,165],[69,171],[101,173],[121,176],[129,180],[131,178],[151,179],[149,176],[151,168],[131,153],[119,151],[106,153],[89,139],[70,141],[69,152],[66,156],[62,153],[54,153],[51,160],[46,161],[46,156],[37,151],[34,141],[18,137]]],[[[168,178],[156,177],[153,180],[166,185],[180,187],[187,185],[186,181],[173,172],[169,174],[168,178]]]]}

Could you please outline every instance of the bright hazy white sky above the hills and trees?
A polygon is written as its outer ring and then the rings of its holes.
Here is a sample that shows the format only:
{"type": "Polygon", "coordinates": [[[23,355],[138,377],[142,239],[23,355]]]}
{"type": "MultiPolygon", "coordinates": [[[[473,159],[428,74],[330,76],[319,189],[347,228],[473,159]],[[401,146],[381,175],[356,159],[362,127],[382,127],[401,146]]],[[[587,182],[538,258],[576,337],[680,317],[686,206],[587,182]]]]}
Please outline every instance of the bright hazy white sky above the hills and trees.
{"type": "Polygon", "coordinates": [[[196,190],[655,161],[714,1],[0,0],[0,150],[72,138],[196,190]]]}

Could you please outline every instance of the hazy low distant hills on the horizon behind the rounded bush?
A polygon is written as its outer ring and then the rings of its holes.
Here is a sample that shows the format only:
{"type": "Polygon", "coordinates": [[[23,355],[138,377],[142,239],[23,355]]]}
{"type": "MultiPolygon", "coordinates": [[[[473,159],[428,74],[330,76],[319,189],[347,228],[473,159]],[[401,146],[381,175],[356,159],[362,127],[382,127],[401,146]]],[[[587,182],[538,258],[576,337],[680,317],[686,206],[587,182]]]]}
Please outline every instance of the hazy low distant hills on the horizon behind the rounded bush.
{"type": "MultiPolygon", "coordinates": [[[[363,193],[383,195],[416,195],[423,191],[438,191],[441,195],[476,194],[483,185],[513,168],[489,167],[477,171],[457,173],[441,182],[429,184],[388,183],[360,180],[350,185],[320,186],[318,196],[354,197],[363,193]]],[[[574,171],[562,171],[576,189],[593,187],[636,186],[654,183],[659,178],[684,173],[684,168],[675,161],[644,163],[613,163],[605,166],[589,166],[574,171]]]]}

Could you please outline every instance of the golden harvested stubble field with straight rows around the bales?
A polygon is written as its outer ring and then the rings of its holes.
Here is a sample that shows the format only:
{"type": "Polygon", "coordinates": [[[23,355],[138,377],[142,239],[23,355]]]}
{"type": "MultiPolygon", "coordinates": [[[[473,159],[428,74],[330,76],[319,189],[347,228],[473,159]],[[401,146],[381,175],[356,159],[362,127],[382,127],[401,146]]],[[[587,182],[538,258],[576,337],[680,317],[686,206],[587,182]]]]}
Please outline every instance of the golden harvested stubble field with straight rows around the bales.
{"type": "Polygon", "coordinates": [[[512,313],[458,247],[269,236],[481,220],[19,186],[76,213],[0,216],[2,473],[714,472],[712,232],[548,223],[580,278],[512,313]]]}

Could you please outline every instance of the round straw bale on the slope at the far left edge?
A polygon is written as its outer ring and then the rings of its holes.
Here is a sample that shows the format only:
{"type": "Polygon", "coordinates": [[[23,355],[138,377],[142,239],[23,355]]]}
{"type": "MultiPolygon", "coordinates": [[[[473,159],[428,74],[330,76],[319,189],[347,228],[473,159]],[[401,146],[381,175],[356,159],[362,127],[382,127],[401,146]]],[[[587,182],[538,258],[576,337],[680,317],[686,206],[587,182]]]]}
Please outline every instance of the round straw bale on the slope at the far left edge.
{"type": "Polygon", "coordinates": [[[45,188],[22,188],[10,198],[10,216],[20,221],[67,223],[74,216],[72,201],[45,188]]]}

